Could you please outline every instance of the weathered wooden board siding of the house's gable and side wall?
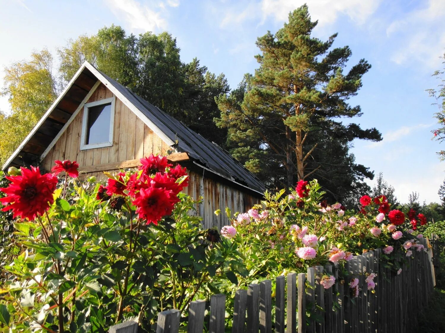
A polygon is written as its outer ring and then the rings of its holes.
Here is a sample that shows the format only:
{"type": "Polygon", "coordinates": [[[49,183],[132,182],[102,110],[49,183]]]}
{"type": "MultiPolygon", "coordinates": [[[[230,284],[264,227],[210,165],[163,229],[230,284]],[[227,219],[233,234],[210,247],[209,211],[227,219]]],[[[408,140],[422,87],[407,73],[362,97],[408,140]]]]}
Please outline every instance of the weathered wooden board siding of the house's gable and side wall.
{"type": "MultiPolygon", "coordinates": [[[[91,95],[88,103],[113,96],[111,91],[101,84],[91,95]]],[[[42,161],[46,170],[50,170],[57,159],[61,161],[64,159],[77,161],[79,166],[93,166],[140,159],[152,153],[154,155],[167,155],[167,151],[170,148],[134,112],[130,111],[119,99],[116,99],[113,146],[81,151],[82,119],[83,110],[79,112],[42,161]]],[[[113,172],[117,170],[108,171],[113,172]]],[[[98,180],[105,180],[106,178],[103,172],[89,172],[85,175],[96,176],[98,180]]],[[[237,211],[246,212],[255,203],[259,203],[258,198],[213,179],[203,177],[202,174],[190,172],[189,176],[189,186],[186,187],[184,192],[195,199],[203,198],[202,204],[196,208],[197,214],[202,216],[203,225],[206,228],[217,226],[220,229],[222,226],[229,224],[229,220],[224,212],[226,207],[229,207],[233,214],[237,211]],[[222,212],[219,216],[216,216],[214,211],[218,209],[221,209],[222,212]]]]}

